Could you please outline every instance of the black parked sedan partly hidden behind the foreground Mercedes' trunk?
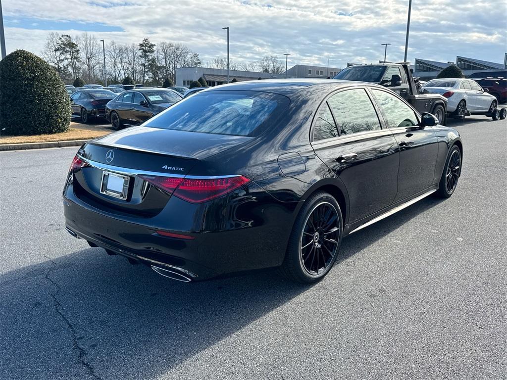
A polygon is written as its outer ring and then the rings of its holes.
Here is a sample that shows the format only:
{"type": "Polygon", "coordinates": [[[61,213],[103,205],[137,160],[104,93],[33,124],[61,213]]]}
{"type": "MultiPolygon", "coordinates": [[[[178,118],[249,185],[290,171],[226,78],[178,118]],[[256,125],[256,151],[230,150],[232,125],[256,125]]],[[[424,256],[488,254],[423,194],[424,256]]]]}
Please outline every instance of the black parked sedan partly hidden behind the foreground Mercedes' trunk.
{"type": "Polygon", "coordinates": [[[183,97],[176,91],[140,88],[126,91],[107,103],[105,115],[113,129],[117,131],[125,124],[142,123],[182,99],[183,97]]]}

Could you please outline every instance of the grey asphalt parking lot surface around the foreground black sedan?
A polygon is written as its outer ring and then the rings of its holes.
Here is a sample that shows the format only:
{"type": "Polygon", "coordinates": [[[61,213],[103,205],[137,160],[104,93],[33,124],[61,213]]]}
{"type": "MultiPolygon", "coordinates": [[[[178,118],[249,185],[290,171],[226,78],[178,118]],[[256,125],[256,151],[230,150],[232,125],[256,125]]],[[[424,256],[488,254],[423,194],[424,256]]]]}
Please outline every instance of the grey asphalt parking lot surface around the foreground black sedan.
{"type": "Polygon", "coordinates": [[[0,153],[0,378],[506,378],[507,120],[449,125],[456,193],[349,236],[313,286],[107,256],[64,229],[77,148],[0,153]]]}

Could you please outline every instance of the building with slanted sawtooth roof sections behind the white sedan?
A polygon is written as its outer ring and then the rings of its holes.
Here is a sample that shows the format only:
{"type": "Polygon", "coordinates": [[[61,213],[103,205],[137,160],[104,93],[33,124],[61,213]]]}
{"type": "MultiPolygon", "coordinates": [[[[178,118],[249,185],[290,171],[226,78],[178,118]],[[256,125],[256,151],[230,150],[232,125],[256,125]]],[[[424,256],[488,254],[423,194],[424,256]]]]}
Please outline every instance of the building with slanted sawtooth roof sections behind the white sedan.
{"type": "Polygon", "coordinates": [[[482,59],[457,56],[455,62],[437,62],[416,58],[414,62],[414,77],[428,81],[437,77],[440,71],[449,65],[456,65],[467,78],[498,77],[505,72],[503,63],[488,62],[482,59]]]}

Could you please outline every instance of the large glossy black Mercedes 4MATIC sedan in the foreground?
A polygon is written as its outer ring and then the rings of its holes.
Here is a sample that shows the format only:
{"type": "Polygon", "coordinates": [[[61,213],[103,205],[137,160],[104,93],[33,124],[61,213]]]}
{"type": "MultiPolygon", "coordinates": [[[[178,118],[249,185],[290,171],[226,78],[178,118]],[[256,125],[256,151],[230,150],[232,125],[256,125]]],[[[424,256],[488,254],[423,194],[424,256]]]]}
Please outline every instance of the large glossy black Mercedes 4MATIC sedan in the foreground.
{"type": "Polygon", "coordinates": [[[281,267],[314,282],[343,237],[433,193],[450,197],[462,154],[457,131],[378,85],[230,84],[84,144],[65,223],[180,281],[281,267]]]}

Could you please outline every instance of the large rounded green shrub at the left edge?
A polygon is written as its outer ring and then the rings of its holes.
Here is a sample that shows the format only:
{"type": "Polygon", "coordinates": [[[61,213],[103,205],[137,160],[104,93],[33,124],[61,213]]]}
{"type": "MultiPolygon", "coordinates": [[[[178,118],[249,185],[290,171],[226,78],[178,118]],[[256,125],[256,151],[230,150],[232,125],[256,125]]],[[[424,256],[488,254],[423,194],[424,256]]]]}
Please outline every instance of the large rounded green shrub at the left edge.
{"type": "Polygon", "coordinates": [[[65,132],[70,101],[58,73],[43,59],[16,50],[0,61],[0,128],[6,135],[65,132]]]}

